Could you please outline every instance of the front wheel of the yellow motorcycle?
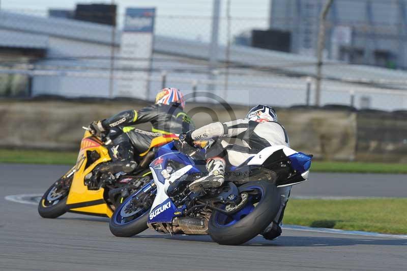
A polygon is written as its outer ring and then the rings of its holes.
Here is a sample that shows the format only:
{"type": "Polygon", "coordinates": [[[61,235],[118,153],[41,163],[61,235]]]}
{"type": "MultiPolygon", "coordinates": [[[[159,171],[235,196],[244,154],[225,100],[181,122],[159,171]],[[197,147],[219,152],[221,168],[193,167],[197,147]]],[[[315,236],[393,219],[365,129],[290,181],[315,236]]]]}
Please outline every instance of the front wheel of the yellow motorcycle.
{"type": "Polygon", "coordinates": [[[53,183],[45,192],[38,204],[38,213],[46,219],[54,219],[63,215],[66,210],[70,179],[60,179],[53,183]]]}

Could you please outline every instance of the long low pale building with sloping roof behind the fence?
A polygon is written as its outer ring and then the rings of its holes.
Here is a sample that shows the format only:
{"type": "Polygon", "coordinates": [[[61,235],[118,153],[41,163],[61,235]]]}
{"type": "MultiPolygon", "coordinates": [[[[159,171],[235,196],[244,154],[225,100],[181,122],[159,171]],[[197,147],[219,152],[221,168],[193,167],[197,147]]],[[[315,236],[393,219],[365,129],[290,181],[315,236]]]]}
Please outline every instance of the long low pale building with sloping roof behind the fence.
{"type": "MultiPolygon", "coordinates": [[[[207,90],[214,84],[211,92],[230,103],[278,106],[304,104],[307,77],[315,76],[313,57],[246,46],[231,46],[227,54],[226,48],[220,46],[219,65],[211,76],[215,81],[209,82],[209,44],[166,36],[154,37],[151,70],[145,69],[146,59],[133,59],[136,70],[137,61],[144,61],[143,72],[137,75],[122,65],[121,35],[111,26],[1,11],[0,56],[7,61],[2,62],[0,72],[3,77],[27,75],[30,80],[26,87],[33,96],[109,97],[110,92],[118,96],[117,83],[134,82],[137,77],[147,81],[147,96],[146,90],[130,96],[150,100],[161,88],[162,74],[166,72],[165,86],[178,87],[187,94],[194,86],[207,90]],[[224,68],[227,55],[232,66],[228,70],[224,68]]],[[[2,82],[0,89],[5,86],[2,82]]],[[[322,103],[350,104],[354,95],[356,107],[405,110],[406,83],[404,71],[332,61],[324,66],[322,103]],[[354,83],[360,79],[362,83],[354,83]]],[[[310,104],[313,86],[311,82],[310,104]]]]}

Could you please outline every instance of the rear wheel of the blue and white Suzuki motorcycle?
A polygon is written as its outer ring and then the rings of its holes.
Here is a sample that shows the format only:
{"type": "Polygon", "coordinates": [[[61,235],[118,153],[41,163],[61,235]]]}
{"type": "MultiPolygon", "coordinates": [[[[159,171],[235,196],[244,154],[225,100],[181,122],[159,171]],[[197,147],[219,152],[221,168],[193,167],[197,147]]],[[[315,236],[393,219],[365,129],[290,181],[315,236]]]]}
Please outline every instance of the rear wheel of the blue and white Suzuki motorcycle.
{"type": "MultiPolygon", "coordinates": [[[[245,205],[231,214],[213,211],[209,235],[220,245],[240,245],[254,238],[275,218],[280,208],[277,187],[265,181],[253,181],[239,187],[245,205]]],[[[229,207],[230,208],[230,207],[229,207]]],[[[228,206],[222,209],[228,210],[228,206]]]]}

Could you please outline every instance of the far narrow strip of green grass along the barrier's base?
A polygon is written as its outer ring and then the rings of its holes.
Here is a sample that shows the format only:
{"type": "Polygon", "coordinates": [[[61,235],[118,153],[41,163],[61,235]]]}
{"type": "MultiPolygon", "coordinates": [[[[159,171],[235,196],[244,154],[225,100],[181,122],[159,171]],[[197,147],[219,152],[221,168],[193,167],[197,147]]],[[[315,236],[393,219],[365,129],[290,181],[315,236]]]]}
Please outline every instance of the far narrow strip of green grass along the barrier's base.
{"type": "MultiPolygon", "coordinates": [[[[10,163],[73,165],[77,156],[77,151],[0,149],[0,162],[10,163]]],[[[407,164],[313,161],[311,171],[407,174],[407,164]]]]}

